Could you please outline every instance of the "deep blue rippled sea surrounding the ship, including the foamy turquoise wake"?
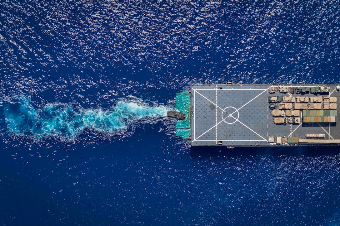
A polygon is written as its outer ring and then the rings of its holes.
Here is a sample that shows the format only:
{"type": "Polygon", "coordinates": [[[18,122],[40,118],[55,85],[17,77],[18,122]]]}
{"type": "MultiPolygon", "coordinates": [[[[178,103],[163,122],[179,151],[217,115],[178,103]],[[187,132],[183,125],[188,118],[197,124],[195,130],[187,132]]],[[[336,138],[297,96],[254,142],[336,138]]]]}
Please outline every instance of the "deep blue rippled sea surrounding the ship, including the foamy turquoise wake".
{"type": "Polygon", "coordinates": [[[0,225],[340,225],[340,149],[190,149],[175,93],[339,83],[340,1],[3,0],[0,225]]]}

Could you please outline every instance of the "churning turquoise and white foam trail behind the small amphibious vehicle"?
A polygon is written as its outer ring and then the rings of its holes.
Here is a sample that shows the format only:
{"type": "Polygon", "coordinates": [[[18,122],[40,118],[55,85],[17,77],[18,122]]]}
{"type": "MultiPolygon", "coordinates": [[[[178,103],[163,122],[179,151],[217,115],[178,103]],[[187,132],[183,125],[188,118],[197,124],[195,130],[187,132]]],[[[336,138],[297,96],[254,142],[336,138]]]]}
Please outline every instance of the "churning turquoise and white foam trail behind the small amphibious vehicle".
{"type": "Polygon", "coordinates": [[[33,108],[30,99],[16,97],[3,101],[2,115],[9,132],[36,137],[60,135],[74,138],[84,129],[116,133],[126,130],[142,118],[164,117],[164,106],[119,101],[109,110],[81,109],[70,104],[49,103],[43,109],[33,108]]]}

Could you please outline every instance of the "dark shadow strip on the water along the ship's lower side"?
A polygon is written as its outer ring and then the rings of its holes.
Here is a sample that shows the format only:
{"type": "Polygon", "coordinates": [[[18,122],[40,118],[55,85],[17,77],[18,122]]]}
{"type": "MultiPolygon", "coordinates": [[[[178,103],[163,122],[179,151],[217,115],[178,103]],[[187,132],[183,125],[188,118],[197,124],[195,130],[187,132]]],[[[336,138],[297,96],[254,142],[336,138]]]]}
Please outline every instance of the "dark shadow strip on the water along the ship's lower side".
{"type": "Polygon", "coordinates": [[[234,149],[227,147],[214,146],[192,146],[191,157],[211,157],[211,156],[254,156],[254,155],[286,155],[286,156],[323,156],[323,155],[338,155],[340,148],[338,146],[329,147],[234,147],[234,149]]]}

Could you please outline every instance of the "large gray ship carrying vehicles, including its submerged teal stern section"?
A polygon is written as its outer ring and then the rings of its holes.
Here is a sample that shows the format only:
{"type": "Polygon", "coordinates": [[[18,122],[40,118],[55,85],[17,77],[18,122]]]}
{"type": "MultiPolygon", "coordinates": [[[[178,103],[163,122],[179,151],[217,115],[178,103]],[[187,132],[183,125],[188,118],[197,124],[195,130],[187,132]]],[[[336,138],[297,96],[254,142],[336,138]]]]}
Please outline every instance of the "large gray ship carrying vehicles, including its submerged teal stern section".
{"type": "MultiPolygon", "coordinates": [[[[176,94],[191,146],[339,146],[339,84],[195,84],[176,94]]],[[[182,118],[182,117],[181,117],[182,118]]]]}

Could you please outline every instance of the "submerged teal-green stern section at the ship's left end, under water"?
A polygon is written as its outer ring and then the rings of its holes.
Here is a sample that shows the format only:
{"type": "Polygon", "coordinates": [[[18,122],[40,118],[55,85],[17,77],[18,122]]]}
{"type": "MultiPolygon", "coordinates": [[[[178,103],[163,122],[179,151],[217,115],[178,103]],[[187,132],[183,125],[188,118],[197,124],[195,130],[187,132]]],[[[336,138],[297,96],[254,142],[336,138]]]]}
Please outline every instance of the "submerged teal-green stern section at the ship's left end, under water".
{"type": "Polygon", "coordinates": [[[176,136],[187,139],[191,136],[191,94],[188,91],[176,93],[176,109],[186,116],[176,121],[176,136]]]}

